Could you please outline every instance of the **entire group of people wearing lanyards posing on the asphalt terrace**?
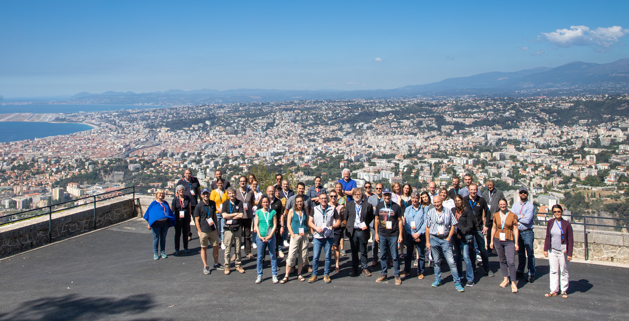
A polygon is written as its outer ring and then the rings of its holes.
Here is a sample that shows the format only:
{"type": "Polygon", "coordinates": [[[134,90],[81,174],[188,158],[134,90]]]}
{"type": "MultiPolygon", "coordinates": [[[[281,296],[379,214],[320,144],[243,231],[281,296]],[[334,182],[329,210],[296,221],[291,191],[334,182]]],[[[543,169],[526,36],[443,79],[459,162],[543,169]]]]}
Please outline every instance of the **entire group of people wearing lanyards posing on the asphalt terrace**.
{"type": "MultiPolygon", "coordinates": [[[[189,228],[194,217],[205,274],[210,274],[213,269],[223,269],[229,275],[232,261],[233,269],[245,273],[242,250],[245,258],[252,260],[251,249],[257,248],[255,283],[264,280],[266,253],[270,256],[273,283],[286,283],[294,272],[297,280],[314,283],[320,273],[323,251],[323,281],[331,283],[333,264],[335,272],[339,272],[340,256],[347,255],[344,249],[347,238],[352,255],[349,275],[371,276],[370,267],[379,265],[380,275],[376,283],[387,281],[388,270],[392,268],[394,282],[401,285],[402,279],[409,278],[415,266],[416,277],[422,280],[428,261],[428,267],[433,268],[435,275],[431,286],[440,286],[441,263],[445,259],[455,290],[462,292],[464,286],[474,286],[481,276],[494,276],[488,259],[491,251],[498,254],[504,278],[499,286],[510,286],[511,291],[517,293],[518,276],[525,276],[528,282],[535,281],[535,207],[528,199],[526,187],[518,190],[519,200],[509,209],[503,192],[492,180],[487,180],[487,190],[481,195],[471,175],[465,175],[463,187],[460,178],[455,177],[449,190],[445,187],[437,190],[437,185],[430,182],[424,191],[399,183],[393,183],[389,188],[382,183],[372,186],[365,182],[364,187],[357,187],[350,175],[350,170],[343,170],[343,178],[330,190],[321,185],[320,177],[316,177],[315,185],[306,191],[301,182],[296,190],[291,190],[289,182],[277,174],[276,184],[269,185],[262,193],[253,174],[240,177],[238,188],[232,188],[223,180],[221,171],[216,171],[216,180],[209,190],[201,189],[199,181],[186,170],[177,183],[172,204],[169,206],[164,200],[164,190],[157,190],[155,201],[145,212],[148,229],[153,231],[154,259],[167,258],[165,236],[172,226],[175,227],[175,254],[181,253],[181,241],[184,252],[189,253],[192,236],[189,228]],[[310,242],[312,256],[309,256],[310,242]],[[373,251],[371,263],[369,242],[373,251]],[[212,268],[207,261],[210,244],[214,258],[212,268]],[[218,258],[219,248],[225,250],[223,264],[218,258]],[[284,248],[287,248],[287,254],[284,254],[284,248]],[[285,276],[281,280],[278,256],[286,256],[285,276]],[[475,269],[477,256],[482,264],[475,269]],[[310,257],[312,261],[309,261],[310,257]],[[403,268],[401,263],[404,263],[403,268]],[[310,273],[308,279],[303,276],[306,267],[310,273]]],[[[562,219],[562,212],[561,205],[554,205],[554,218],[547,224],[544,244],[544,255],[550,261],[547,297],[562,295],[567,298],[573,239],[571,224],[562,219]]]]}

